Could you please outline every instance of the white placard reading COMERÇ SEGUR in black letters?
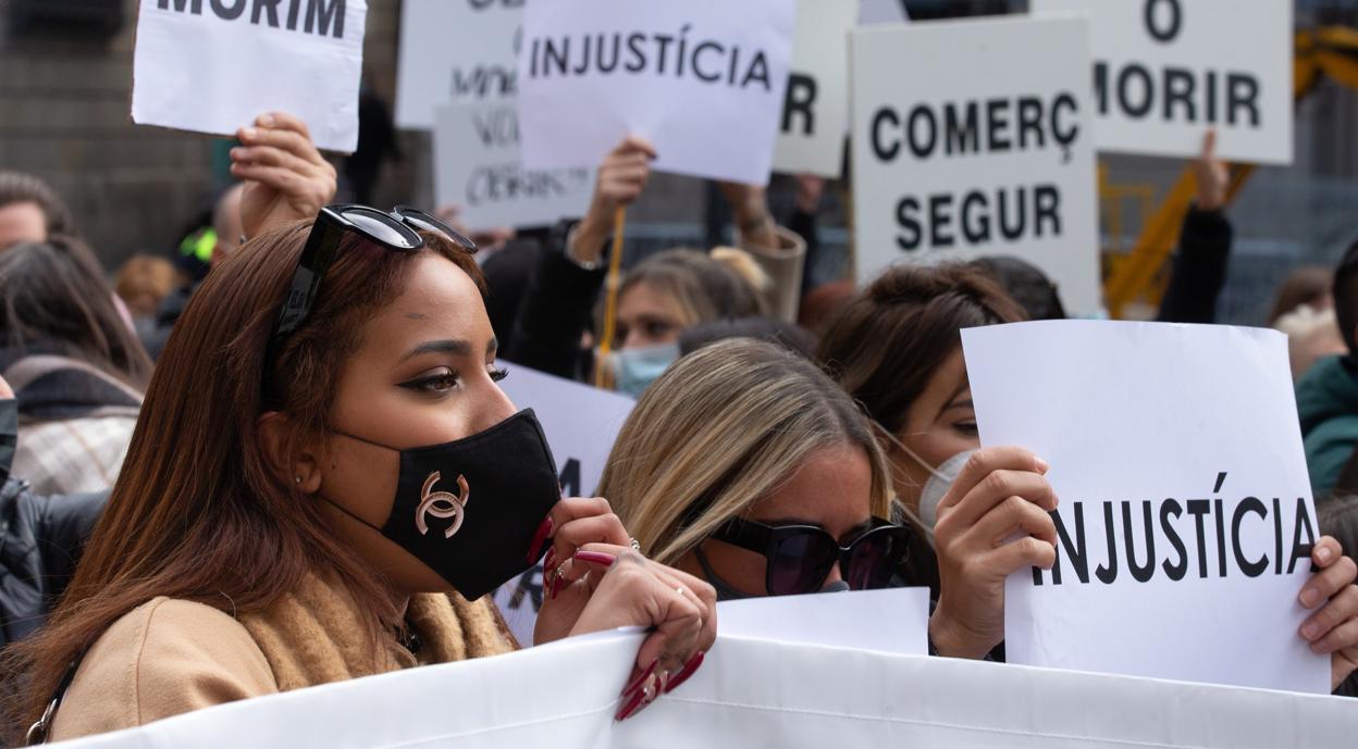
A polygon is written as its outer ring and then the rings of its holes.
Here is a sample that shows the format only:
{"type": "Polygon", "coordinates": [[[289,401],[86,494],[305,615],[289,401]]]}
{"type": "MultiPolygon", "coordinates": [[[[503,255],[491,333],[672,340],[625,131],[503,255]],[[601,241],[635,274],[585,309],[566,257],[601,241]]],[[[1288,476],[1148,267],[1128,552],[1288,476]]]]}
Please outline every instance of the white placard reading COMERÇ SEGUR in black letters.
{"type": "Polygon", "coordinates": [[[1067,309],[1099,311],[1088,27],[1067,16],[853,34],[860,281],[895,262],[1014,255],[1067,309]]]}

